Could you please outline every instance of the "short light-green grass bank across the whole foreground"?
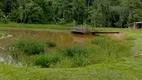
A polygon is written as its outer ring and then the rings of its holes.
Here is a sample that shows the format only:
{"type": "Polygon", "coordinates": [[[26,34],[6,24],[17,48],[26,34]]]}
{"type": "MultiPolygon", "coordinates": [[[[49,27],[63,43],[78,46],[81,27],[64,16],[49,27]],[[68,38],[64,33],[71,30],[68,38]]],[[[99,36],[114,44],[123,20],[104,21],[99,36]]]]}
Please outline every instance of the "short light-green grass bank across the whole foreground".
{"type": "Polygon", "coordinates": [[[141,80],[142,58],[125,58],[84,68],[13,67],[0,64],[0,80],[141,80]]]}

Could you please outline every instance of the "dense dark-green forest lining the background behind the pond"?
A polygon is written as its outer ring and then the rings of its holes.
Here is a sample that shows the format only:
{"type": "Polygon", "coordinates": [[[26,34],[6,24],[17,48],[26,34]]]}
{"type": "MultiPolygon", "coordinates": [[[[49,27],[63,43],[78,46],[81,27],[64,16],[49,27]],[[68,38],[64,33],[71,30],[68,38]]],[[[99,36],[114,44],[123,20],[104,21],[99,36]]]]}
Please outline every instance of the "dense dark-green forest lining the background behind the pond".
{"type": "Polygon", "coordinates": [[[4,23],[127,27],[142,20],[141,0],[0,0],[4,23]]]}

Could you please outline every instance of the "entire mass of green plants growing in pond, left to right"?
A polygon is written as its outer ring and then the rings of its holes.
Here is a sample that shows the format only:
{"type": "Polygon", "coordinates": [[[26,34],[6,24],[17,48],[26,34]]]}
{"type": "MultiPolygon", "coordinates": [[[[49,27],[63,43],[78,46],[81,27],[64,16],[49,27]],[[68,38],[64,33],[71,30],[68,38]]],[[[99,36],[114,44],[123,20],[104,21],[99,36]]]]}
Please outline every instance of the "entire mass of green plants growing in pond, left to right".
{"type": "Polygon", "coordinates": [[[111,37],[98,36],[82,44],[60,46],[52,40],[44,41],[35,38],[15,42],[10,46],[10,54],[22,64],[27,61],[24,60],[27,58],[21,56],[24,54],[29,56],[26,65],[47,68],[84,67],[130,56],[130,40],[133,38],[115,40],[111,37]]]}

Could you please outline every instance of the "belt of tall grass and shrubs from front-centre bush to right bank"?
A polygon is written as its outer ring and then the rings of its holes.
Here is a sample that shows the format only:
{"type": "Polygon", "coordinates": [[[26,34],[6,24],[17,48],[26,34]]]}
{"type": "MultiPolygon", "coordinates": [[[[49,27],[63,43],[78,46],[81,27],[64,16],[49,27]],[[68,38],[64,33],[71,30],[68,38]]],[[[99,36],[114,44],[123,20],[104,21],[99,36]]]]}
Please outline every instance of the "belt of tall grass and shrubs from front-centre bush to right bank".
{"type": "Polygon", "coordinates": [[[130,45],[127,41],[113,40],[100,36],[91,40],[91,46],[68,45],[59,48],[56,54],[48,54],[37,58],[37,65],[42,67],[82,67],[104,61],[112,61],[130,56],[130,45]],[[41,60],[41,61],[40,61],[41,60]],[[46,63],[46,64],[45,64],[46,63]],[[46,66],[43,66],[46,65],[46,66]]]}

